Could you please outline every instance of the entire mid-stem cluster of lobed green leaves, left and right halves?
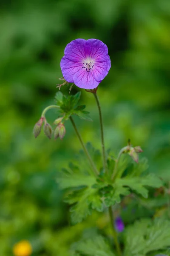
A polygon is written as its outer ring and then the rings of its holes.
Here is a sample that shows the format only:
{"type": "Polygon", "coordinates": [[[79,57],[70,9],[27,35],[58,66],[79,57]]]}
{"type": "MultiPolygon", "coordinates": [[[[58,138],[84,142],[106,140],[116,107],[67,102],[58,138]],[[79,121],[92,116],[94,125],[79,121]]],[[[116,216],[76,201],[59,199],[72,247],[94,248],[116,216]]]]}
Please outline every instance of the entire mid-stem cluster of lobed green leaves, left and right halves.
{"type": "MultiPolygon", "coordinates": [[[[88,144],[88,150],[94,162],[97,163],[98,169],[100,169],[98,159],[101,158],[101,155],[99,151],[95,150],[91,144],[88,144]]],[[[112,160],[113,158],[110,157],[108,163],[113,163],[112,160]]],[[[148,189],[146,187],[159,188],[162,186],[159,177],[145,174],[147,168],[145,159],[141,160],[139,165],[130,163],[129,166],[127,161],[123,160],[120,165],[121,172],[124,173],[125,170],[129,170],[131,175],[119,177],[115,182],[112,182],[110,176],[114,164],[108,164],[110,168],[108,173],[103,173],[101,169],[101,174],[96,178],[83,152],[76,162],[75,164],[70,163],[69,169],[62,169],[57,175],[59,187],[67,189],[65,202],[72,205],[70,208],[72,224],[79,223],[91,215],[92,209],[102,212],[104,207],[119,204],[122,196],[136,192],[147,198],[148,189]],[[84,160],[85,164],[83,164],[84,160]],[[134,165],[138,172],[136,172],[134,165]]],[[[101,162],[100,165],[102,166],[101,162]]]]}

